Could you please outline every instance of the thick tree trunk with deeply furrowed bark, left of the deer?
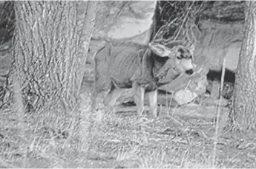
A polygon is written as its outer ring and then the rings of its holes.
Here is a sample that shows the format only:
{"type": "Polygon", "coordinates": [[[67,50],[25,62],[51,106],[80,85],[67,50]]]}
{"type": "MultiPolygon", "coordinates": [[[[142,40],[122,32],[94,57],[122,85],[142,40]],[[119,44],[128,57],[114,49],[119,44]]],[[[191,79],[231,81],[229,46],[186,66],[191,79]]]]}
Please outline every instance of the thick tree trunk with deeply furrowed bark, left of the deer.
{"type": "MultiPolygon", "coordinates": [[[[77,55],[76,7],[76,1],[16,1],[8,86],[15,89],[14,82],[19,82],[18,100],[29,111],[59,116],[76,108],[85,66],[77,55]]],[[[9,98],[17,100],[13,97],[15,92],[9,98]]]]}

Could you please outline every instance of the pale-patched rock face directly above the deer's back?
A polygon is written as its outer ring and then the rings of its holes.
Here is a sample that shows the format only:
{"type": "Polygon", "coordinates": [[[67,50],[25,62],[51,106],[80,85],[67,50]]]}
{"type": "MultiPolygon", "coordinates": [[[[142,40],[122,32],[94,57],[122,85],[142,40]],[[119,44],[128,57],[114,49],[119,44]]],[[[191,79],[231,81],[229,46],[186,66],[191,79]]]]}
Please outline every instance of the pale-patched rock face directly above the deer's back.
{"type": "MultiPolygon", "coordinates": [[[[86,2],[79,3],[82,21],[86,2]]],[[[148,44],[156,4],[157,1],[99,1],[88,63],[93,63],[93,54],[105,45],[105,40],[148,44]]]]}

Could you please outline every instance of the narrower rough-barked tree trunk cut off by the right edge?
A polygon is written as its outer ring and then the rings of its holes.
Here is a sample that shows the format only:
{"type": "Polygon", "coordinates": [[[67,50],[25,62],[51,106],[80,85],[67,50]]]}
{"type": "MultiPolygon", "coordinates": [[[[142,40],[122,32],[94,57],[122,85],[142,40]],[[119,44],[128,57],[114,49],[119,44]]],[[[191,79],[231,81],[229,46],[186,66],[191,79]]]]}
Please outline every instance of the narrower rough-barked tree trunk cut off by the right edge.
{"type": "Polygon", "coordinates": [[[245,36],[235,79],[234,124],[240,130],[256,127],[256,2],[246,1],[245,36]]]}

